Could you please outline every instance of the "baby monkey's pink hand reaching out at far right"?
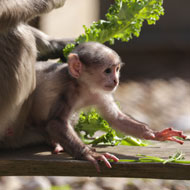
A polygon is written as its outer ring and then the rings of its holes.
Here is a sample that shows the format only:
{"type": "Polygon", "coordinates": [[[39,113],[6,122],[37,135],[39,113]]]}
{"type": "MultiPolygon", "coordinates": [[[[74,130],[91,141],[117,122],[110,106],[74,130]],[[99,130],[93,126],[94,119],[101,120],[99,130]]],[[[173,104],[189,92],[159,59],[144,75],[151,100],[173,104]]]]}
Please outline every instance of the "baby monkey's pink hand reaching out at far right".
{"type": "Polygon", "coordinates": [[[182,131],[174,130],[172,128],[167,128],[162,131],[156,132],[154,140],[158,141],[175,141],[179,144],[183,144],[183,140],[176,139],[175,137],[180,137],[186,139],[187,136],[183,135],[182,131]]]}

